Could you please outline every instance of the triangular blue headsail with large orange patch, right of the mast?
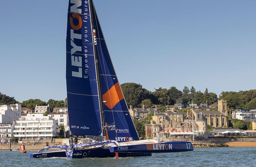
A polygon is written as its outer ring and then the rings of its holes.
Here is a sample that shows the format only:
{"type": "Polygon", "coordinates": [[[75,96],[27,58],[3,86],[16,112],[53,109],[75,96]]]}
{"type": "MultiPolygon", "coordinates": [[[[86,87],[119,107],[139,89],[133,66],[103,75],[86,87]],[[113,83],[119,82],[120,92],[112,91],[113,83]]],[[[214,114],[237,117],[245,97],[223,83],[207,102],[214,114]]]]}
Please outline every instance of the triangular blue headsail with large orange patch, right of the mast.
{"type": "Polygon", "coordinates": [[[97,45],[97,54],[99,57],[102,99],[105,101],[103,108],[104,124],[108,126],[106,128],[107,140],[116,140],[118,142],[139,140],[138,133],[118,82],[93,3],[92,19],[95,29],[93,35],[96,38],[94,44],[97,45]]]}

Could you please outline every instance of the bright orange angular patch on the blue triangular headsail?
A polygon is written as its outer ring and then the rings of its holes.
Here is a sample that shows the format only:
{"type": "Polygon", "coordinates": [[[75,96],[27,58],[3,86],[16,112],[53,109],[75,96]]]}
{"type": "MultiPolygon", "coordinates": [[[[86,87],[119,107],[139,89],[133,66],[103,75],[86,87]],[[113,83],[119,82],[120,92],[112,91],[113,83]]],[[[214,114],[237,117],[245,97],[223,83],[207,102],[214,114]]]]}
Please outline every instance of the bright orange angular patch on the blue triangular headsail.
{"type": "Polygon", "coordinates": [[[103,101],[107,101],[104,103],[108,108],[112,109],[120,100],[124,99],[121,87],[117,82],[113,87],[111,87],[108,92],[102,95],[103,101]]]}

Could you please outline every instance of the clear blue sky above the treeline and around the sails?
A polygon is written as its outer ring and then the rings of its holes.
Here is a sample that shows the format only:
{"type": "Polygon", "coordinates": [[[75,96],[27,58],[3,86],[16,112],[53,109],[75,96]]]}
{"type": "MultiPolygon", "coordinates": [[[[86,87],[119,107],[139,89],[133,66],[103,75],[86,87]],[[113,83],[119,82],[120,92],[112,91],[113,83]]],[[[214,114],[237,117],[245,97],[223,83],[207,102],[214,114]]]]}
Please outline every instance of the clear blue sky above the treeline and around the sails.
{"type": "MultiPolygon", "coordinates": [[[[256,1],[94,1],[120,83],[256,88],[256,1]]],[[[67,0],[0,1],[0,92],[66,98],[67,0]]]]}

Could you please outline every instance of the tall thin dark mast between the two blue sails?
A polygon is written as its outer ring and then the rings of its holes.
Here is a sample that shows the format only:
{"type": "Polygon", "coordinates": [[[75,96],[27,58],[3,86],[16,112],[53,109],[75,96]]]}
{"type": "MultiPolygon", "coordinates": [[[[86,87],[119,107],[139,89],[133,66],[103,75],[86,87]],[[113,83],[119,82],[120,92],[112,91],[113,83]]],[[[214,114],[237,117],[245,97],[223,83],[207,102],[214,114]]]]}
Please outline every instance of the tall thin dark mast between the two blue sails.
{"type": "MultiPolygon", "coordinates": [[[[92,0],[89,0],[90,4],[90,15],[91,15],[91,22],[92,22],[92,33],[93,30],[96,30],[94,27],[94,21],[93,21],[93,13],[92,13],[92,0]]],[[[93,7],[94,8],[94,7],[93,7]]],[[[93,9],[94,11],[95,9],[93,9]]],[[[99,34],[96,34],[99,35],[99,34]]],[[[97,85],[98,85],[98,94],[99,94],[99,103],[100,103],[100,119],[101,119],[101,128],[102,128],[102,136],[106,136],[105,128],[104,126],[104,109],[103,109],[103,100],[102,100],[102,89],[101,89],[101,82],[100,82],[100,67],[99,67],[99,54],[98,54],[98,48],[97,48],[97,43],[93,43],[93,49],[94,49],[94,57],[95,57],[95,65],[96,65],[96,76],[97,76],[97,85]]]]}

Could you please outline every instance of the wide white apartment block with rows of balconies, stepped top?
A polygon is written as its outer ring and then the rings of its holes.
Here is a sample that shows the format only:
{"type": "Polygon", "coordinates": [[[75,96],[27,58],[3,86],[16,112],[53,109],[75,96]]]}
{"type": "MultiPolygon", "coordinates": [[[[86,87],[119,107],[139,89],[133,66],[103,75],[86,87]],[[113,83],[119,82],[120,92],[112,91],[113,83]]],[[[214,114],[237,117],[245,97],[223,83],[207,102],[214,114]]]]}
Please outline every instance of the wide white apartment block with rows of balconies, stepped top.
{"type": "Polygon", "coordinates": [[[58,121],[44,114],[27,114],[15,121],[13,135],[19,140],[23,139],[52,139],[59,136],[58,121]]]}

